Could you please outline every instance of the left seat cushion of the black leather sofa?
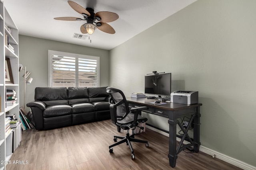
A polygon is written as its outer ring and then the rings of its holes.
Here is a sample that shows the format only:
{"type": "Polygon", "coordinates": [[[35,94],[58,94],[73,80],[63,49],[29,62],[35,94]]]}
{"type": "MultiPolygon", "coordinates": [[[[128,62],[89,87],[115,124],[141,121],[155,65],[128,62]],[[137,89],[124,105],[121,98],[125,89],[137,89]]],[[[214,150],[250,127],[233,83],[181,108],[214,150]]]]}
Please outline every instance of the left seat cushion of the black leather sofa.
{"type": "Polygon", "coordinates": [[[70,115],[72,113],[72,107],[69,105],[55,105],[55,106],[48,106],[44,110],[44,117],[54,117],[54,116],[64,116],[70,115]]]}

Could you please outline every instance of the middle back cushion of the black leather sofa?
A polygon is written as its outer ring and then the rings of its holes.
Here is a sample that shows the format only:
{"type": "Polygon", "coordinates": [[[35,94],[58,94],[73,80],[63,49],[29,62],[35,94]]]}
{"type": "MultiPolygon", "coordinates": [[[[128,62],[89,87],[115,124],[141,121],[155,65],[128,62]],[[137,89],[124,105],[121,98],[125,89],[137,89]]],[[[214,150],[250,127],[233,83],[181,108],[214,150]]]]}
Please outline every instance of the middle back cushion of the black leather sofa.
{"type": "Polygon", "coordinates": [[[68,102],[70,105],[78,103],[89,103],[87,87],[68,87],[68,102]]]}

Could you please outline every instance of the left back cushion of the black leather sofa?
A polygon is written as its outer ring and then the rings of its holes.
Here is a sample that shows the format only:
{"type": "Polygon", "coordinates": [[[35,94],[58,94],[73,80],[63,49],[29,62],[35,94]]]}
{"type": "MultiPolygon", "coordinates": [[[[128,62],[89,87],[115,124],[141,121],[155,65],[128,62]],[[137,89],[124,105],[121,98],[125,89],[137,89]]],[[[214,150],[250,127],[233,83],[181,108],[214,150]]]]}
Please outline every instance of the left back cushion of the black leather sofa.
{"type": "Polygon", "coordinates": [[[68,89],[66,87],[37,87],[35,100],[40,100],[46,106],[68,104],[68,89]]]}

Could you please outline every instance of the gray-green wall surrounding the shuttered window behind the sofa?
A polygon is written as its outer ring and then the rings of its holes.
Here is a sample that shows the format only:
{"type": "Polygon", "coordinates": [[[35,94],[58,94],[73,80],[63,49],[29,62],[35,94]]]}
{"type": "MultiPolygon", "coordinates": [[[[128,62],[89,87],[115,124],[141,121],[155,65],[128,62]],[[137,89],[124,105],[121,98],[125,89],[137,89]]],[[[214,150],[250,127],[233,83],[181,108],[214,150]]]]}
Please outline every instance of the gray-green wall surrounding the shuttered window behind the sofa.
{"type": "MultiPolygon", "coordinates": [[[[108,86],[108,50],[19,35],[19,62],[26,66],[31,72],[30,77],[33,78],[33,82],[26,86],[26,103],[34,100],[36,87],[48,87],[48,50],[100,57],[100,86],[108,86]]],[[[24,104],[23,74],[24,70],[20,73],[20,106],[24,104]]]]}

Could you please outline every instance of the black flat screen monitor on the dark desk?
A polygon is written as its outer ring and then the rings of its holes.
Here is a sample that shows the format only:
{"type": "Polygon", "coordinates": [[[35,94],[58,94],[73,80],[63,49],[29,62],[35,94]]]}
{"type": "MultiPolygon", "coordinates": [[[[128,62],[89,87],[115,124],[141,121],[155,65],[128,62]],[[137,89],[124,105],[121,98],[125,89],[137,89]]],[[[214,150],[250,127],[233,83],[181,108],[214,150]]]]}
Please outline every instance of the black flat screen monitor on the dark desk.
{"type": "Polygon", "coordinates": [[[145,94],[170,96],[171,73],[154,74],[145,76],[145,94]]]}

